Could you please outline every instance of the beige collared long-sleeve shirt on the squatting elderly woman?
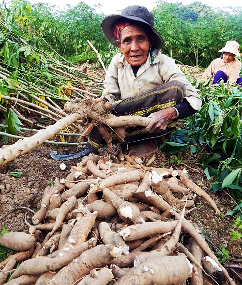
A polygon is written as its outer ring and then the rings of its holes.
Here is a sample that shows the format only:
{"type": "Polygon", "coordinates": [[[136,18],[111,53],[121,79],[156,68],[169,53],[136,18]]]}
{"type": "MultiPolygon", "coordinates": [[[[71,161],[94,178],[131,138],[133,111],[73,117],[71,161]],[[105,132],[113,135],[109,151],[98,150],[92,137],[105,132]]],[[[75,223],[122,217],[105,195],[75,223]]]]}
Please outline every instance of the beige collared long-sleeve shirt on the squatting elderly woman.
{"type": "Polygon", "coordinates": [[[178,80],[185,85],[185,95],[188,103],[200,110],[201,99],[197,90],[186,79],[183,72],[176,65],[175,60],[155,50],[155,58],[151,64],[151,56],[139,67],[135,77],[131,65],[118,53],[111,60],[105,76],[106,98],[109,102],[130,98],[151,90],[171,80],[178,80]]]}

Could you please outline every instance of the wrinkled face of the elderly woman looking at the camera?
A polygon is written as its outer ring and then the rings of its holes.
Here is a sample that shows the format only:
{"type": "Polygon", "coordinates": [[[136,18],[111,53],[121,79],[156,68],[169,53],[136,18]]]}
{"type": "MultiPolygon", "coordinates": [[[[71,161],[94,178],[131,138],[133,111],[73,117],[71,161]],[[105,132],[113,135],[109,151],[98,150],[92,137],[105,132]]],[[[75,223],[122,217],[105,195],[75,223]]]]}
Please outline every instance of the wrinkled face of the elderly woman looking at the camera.
{"type": "Polygon", "coordinates": [[[147,60],[153,43],[142,28],[131,24],[121,30],[120,39],[117,44],[129,64],[139,66],[147,60]]]}

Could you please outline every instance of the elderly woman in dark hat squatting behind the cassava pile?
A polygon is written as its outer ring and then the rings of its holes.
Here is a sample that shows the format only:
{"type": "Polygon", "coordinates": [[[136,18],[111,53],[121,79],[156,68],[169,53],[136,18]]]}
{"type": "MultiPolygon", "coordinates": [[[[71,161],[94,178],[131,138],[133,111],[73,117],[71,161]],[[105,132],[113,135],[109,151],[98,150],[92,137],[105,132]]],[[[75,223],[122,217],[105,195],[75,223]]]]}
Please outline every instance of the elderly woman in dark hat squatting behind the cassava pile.
{"type": "MultiPolygon", "coordinates": [[[[127,149],[142,158],[166,141],[178,119],[195,114],[201,108],[201,99],[175,61],[160,52],[164,41],[154,29],[154,17],[147,8],[129,6],[121,15],[108,15],[101,28],[121,51],[111,60],[104,83],[112,113],[151,118],[146,128],[127,128],[124,142],[114,150],[127,149]]],[[[93,128],[88,149],[97,154],[101,143],[102,136],[93,128]]]]}

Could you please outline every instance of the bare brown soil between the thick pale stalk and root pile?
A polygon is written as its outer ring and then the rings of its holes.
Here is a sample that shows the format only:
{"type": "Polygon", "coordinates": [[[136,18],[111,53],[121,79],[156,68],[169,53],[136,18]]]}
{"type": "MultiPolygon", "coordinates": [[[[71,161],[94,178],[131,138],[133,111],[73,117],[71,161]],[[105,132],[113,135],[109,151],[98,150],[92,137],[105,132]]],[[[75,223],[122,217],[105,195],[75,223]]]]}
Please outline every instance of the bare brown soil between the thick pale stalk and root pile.
{"type": "Polygon", "coordinates": [[[27,230],[24,223],[25,213],[31,215],[33,213],[30,210],[39,209],[46,185],[55,178],[65,178],[70,172],[70,166],[77,163],[78,159],[65,161],[66,168],[61,170],[62,162],[50,156],[50,152],[54,150],[61,155],[76,152],[75,148],[58,149],[51,144],[42,144],[1,168],[0,232],[3,226],[9,231],[27,230]],[[10,176],[9,170],[22,172],[21,178],[10,176]]]}

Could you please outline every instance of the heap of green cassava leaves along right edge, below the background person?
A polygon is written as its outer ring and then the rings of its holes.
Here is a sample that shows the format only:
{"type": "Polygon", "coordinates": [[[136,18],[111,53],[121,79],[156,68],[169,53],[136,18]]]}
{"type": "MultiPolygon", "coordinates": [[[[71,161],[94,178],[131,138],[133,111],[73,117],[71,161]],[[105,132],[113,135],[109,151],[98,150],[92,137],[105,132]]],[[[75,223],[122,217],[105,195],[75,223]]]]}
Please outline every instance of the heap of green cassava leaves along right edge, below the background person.
{"type": "Polygon", "coordinates": [[[242,216],[242,87],[209,82],[199,87],[201,110],[184,120],[185,126],[175,130],[162,147],[168,155],[178,153],[177,157],[189,149],[197,152],[206,146],[211,150],[213,155],[201,154],[204,173],[207,179],[216,179],[213,192],[225,189],[236,201],[226,215],[242,216]]]}

